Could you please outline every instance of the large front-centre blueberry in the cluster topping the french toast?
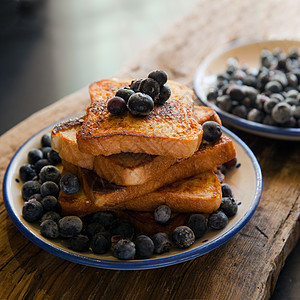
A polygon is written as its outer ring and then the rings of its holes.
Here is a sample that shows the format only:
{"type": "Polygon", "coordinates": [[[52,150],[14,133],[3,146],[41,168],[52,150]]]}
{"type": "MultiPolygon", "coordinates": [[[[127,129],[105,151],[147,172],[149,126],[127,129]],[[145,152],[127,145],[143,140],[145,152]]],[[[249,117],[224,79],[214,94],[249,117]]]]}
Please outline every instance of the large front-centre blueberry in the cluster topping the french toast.
{"type": "Polygon", "coordinates": [[[147,94],[135,93],[130,96],[127,102],[127,107],[133,115],[146,116],[153,110],[154,102],[147,94]]]}

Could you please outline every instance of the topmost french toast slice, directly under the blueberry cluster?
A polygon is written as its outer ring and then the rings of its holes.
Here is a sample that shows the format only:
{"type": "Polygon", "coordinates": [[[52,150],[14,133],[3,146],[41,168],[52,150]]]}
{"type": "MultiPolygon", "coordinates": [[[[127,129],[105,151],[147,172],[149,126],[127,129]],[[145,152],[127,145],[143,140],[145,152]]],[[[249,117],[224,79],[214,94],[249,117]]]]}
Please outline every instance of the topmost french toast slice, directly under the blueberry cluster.
{"type": "Polygon", "coordinates": [[[107,101],[113,93],[107,89],[115,91],[129,84],[128,80],[111,79],[90,86],[92,103],[77,132],[79,150],[95,156],[133,152],[186,158],[195,153],[203,132],[194,117],[193,91],[168,81],[171,97],[164,105],[155,105],[149,115],[110,114],[107,101]]]}

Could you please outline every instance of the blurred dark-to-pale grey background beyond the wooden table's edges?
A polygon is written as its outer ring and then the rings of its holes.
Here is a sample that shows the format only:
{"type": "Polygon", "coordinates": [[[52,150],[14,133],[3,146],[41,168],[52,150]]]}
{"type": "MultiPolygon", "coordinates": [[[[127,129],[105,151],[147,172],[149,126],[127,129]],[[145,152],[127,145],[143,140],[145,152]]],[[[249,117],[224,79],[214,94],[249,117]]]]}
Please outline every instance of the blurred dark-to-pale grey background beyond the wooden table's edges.
{"type": "MultiPolygon", "coordinates": [[[[200,2],[1,0],[0,134],[92,81],[113,76],[200,2]]],[[[291,299],[287,295],[299,290],[299,250],[298,243],[273,300],[291,299]]]]}

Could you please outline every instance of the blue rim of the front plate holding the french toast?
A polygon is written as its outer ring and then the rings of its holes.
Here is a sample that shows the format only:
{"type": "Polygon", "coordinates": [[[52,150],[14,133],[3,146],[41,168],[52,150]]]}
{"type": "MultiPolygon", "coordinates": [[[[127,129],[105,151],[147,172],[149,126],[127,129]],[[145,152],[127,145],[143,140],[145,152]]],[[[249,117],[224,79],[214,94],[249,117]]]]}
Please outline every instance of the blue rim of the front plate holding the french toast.
{"type": "MultiPolygon", "coordinates": [[[[79,115],[79,114],[77,114],[79,115]]],[[[75,116],[75,115],[74,115],[75,116]]],[[[74,117],[71,116],[71,117],[74,117]]],[[[66,118],[69,119],[70,117],[66,118]]],[[[64,120],[66,120],[64,119],[64,120]]],[[[61,120],[63,121],[63,120],[61,120]]],[[[170,255],[167,257],[162,258],[154,258],[154,259],[147,259],[147,260],[129,260],[129,261],[120,261],[120,260],[106,260],[106,259],[100,259],[100,258],[93,258],[88,257],[82,254],[76,254],[74,252],[68,251],[68,249],[61,249],[53,244],[45,242],[41,237],[38,235],[35,235],[33,232],[31,232],[26,226],[21,222],[21,220],[18,218],[16,213],[14,212],[11,204],[10,199],[8,196],[8,180],[10,177],[12,177],[12,165],[16,158],[18,157],[19,152],[23,149],[25,145],[27,145],[33,138],[40,135],[43,131],[49,130],[51,127],[53,127],[57,122],[45,127],[44,129],[40,130],[36,134],[34,134],[32,137],[30,137],[15,153],[13,158],[11,159],[6,173],[4,175],[3,180],[3,200],[6,207],[6,210],[8,212],[8,215],[12,219],[13,223],[16,225],[16,227],[21,231],[21,233],[28,238],[31,242],[39,246],[40,248],[44,249],[45,251],[54,254],[60,258],[66,259],[71,262],[83,264],[86,266],[91,267],[98,267],[103,269],[112,269],[112,270],[146,270],[146,269],[154,269],[154,268],[161,268],[166,266],[171,266],[174,264],[182,263],[191,259],[194,259],[196,257],[199,257],[201,255],[204,255],[215,248],[221,246],[225,242],[227,242],[229,239],[231,239],[237,232],[239,232],[249,221],[249,219],[254,214],[260,198],[262,194],[262,173],[259,166],[259,163],[253,154],[253,152],[249,149],[249,147],[234,133],[232,133],[230,130],[226,128],[222,128],[223,132],[229,136],[231,139],[233,139],[236,143],[238,143],[242,149],[246,152],[247,156],[250,158],[252,166],[254,168],[254,172],[256,175],[256,187],[255,187],[255,194],[251,202],[251,206],[247,210],[247,212],[241,217],[241,219],[228,231],[224,232],[222,235],[220,235],[217,238],[213,238],[210,242],[207,242],[204,245],[201,245],[197,248],[179,253],[170,255]]]]}

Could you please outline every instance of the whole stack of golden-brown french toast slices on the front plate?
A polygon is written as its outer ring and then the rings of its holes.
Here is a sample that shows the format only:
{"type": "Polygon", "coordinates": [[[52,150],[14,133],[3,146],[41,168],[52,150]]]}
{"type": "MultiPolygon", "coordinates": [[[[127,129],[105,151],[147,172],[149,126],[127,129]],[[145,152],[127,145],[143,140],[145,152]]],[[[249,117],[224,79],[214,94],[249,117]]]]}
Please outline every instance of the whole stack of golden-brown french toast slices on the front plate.
{"type": "Polygon", "coordinates": [[[215,171],[236,153],[229,137],[202,138],[204,122],[221,124],[215,111],[194,107],[193,91],[169,80],[170,98],[149,115],[111,114],[108,100],[130,83],[108,79],[91,84],[85,115],[53,128],[52,147],[63,173],[72,172],[81,181],[79,192],[60,192],[63,214],[109,210],[142,216],[163,204],[175,213],[217,210],[222,192],[215,171]]]}

